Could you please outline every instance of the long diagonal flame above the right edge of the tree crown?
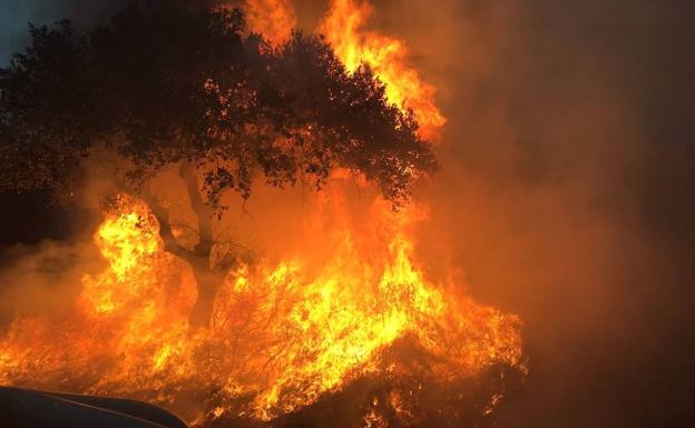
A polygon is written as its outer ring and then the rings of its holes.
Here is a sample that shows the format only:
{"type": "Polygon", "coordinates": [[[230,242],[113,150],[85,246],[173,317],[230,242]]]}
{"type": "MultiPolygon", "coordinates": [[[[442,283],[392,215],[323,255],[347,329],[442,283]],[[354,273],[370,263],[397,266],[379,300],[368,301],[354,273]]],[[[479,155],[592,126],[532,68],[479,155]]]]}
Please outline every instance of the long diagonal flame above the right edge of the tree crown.
{"type": "Polygon", "coordinates": [[[319,31],[335,49],[348,71],[362,63],[372,68],[386,86],[386,98],[403,109],[412,109],[420,137],[437,140],[447,119],[434,103],[437,89],[409,64],[408,46],[399,39],[365,30],[373,7],[360,0],[331,0],[319,31]]]}

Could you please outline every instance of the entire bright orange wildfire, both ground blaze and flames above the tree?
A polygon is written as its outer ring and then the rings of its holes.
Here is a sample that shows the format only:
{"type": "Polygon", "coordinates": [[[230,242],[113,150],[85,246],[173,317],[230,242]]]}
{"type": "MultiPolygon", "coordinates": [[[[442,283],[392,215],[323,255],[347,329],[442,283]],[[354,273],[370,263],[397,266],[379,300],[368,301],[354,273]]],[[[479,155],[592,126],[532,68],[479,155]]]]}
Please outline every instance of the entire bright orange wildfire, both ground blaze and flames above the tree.
{"type": "MultiPolygon", "coordinates": [[[[296,24],[286,0],[246,3],[252,29],[273,42],[296,24]]],[[[434,88],[408,66],[402,41],[363,29],[371,13],[366,2],[333,0],[321,31],[349,70],[372,67],[389,99],[413,110],[422,137],[437,138],[446,119],[434,88]]],[[[336,176],[337,185],[312,197],[305,232],[322,247],[235,266],[209,328],[198,330],[188,326],[197,293],[190,267],[165,251],[148,207],[121,197],[94,233],[106,266],[84,275],[72,312],[18,318],[0,337],[0,385],[145,399],[194,425],[225,417],[261,425],[382,379],[389,391],[374,392],[358,420],[385,427],[384,406],[390,418],[417,417],[424,386],[409,380],[415,374],[451,386],[497,366],[523,371],[516,316],[423,273],[413,227],[427,208],[394,212],[376,198],[355,226],[340,185],[348,180],[336,176]],[[317,251],[329,260],[319,270],[309,260],[317,251]]],[[[481,412],[501,395],[488,398],[481,412]]]]}

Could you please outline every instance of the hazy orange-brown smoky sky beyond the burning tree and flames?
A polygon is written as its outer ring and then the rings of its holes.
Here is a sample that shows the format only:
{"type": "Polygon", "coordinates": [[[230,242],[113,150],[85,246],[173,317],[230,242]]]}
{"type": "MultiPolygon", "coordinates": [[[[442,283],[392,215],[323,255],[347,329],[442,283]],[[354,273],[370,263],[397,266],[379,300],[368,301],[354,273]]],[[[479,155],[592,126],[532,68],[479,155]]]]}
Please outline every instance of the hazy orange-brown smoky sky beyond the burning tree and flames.
{"type": "MultiPolygon", "coordinates": [[[[1,0],[0,57],[26,42],[27,21],[86,26],[118,3],[1,0]]],[[[295,3],[306,26],[325,9],[295,3]]],[[[421,251],[446,248],[477,299],[525,320],[531,374],[498,426],[686,426],[693,2],[374,4],[374,26],[405,38],[449,119],[442,171],[421,190],[421,251]]]]}

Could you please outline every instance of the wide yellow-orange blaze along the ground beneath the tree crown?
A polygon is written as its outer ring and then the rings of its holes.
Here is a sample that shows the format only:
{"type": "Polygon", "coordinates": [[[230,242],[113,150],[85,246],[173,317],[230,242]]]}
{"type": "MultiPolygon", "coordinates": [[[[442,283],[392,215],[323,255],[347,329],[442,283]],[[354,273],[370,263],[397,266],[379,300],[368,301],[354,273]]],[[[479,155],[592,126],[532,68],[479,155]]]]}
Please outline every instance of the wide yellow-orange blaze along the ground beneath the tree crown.
{"type": "MultiPolygon", "coordinates": [[[[317,199],[319,218],[326,209],[340,213],[340,195],[317,199]]],[[[516,316],[474,303],[453,291],[456,283],[425,279],[408,233],[422,216],[421,207],[393,212],[376,200],[365,229],[344,218],[329,231],[312,230],[334,248],[314,275],[302,253],[239,266],[216,297],[211,328],[193,332],[190,271],[163,250],[156,220],[133,200],[95,232],[107,267],[84,277],[75,311],[12,324],[0,341],[0,384],[155,391],[147,398],[169,405],[184,386],[204,386],[219,391],[218,402],[190,420],[271,420],[362,376],[389,372],[382,352],[407,336],[444,361],[442,381],[493,364],[521,366],[516,316]]]]}

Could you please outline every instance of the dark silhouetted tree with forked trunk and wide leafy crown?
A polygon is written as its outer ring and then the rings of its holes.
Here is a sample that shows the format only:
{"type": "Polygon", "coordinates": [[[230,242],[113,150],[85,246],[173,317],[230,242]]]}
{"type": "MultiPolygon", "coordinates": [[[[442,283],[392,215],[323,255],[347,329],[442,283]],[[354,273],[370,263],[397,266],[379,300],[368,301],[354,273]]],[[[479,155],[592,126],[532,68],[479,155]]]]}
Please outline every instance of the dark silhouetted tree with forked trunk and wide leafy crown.
{"type": "Polygon", "coordinates": [[[221,197],[251,196],[334,168],[375,182],[394,206],[435,168],[412,113],[390,104],[371,70],[348,73],[320,36],[273,47],[241,11],[133,3],[78,34],[69,21],[31,27],[31,43],[0,70],[0,190],[79,190],[82,160],[102,147],[128,165],[123,186],[159,221],[165,249],[193,268],[195,325],[209,321],[224,271],[214,266],[221,197]],[[182,245],[146,183],[176,166],[197,217],[182,245]]]}

